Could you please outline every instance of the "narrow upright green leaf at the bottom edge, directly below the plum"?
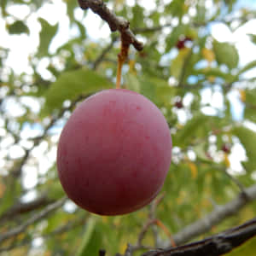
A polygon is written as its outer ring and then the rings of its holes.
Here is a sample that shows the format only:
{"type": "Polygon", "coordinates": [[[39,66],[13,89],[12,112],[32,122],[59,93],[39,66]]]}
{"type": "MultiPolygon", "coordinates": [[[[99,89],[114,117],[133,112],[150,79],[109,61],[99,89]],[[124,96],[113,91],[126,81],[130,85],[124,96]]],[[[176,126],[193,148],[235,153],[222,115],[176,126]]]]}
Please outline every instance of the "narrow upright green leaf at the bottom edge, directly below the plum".
{"type": "Polygon", "coordinates": [[[84,237],[76,256],[98,255],[102,245],[101,230],[96,227],[96,218],[89,218],[86,224],[84,237]]]}

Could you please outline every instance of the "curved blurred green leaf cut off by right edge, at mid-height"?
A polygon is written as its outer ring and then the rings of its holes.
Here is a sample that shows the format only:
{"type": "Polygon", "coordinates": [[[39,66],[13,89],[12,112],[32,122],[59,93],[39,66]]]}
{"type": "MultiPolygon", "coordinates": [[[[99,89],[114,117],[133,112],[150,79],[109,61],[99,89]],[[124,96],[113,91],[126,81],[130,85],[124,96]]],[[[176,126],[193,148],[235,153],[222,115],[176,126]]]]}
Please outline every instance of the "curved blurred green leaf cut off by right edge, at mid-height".
{"type": "Polygon", "coordinates": [[[234,135],[239,138],[247,152],[247,172],[253,172],[256,168],[256,132],[244,126],[237,126],[233,129],[234,135]]]}

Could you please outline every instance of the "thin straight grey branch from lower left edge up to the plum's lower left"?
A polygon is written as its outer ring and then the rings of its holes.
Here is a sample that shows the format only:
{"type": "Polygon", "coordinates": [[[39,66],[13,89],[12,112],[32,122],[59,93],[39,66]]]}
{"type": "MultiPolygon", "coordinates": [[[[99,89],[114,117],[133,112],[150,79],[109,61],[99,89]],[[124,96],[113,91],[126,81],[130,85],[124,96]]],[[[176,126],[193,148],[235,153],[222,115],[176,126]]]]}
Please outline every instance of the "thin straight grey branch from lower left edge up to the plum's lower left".
{"type": "Polygon", "coordinates": [[[55,201],[54,203],[50,204],[48,207],[45,207],[45,209],[41,212],[38,212],[32,218],[28,218],[28,220],[24,224],[20,224],[20,226],[15,227],[13,230],[9,230],[6,233],[3,233],[0,236],[0,243],[3,241],[8,240],[9,238],[13,236],[17,236],[23,231],[25,231],[31,224],[36,223],[41,218],[45,218],[50,212],[54,212],[56,209],[61,207],[65,201],[67,200],[67,197],[63,197],[58,201],[55,201]]]}

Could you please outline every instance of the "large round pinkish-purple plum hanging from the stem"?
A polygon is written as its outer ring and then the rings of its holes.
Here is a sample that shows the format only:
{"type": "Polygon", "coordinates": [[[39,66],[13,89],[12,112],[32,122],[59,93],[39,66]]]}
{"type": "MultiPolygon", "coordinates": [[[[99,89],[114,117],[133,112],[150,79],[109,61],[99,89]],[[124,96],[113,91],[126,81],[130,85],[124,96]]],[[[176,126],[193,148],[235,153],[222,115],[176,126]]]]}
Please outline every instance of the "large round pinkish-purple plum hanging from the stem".
{"type": "Polygon", "coordinates": [[[171,164],[165,117],[131,90],[102,90],[80,103],[61,132],[57,169],[77,205],[100,215],[144,207],[171,164]]]}

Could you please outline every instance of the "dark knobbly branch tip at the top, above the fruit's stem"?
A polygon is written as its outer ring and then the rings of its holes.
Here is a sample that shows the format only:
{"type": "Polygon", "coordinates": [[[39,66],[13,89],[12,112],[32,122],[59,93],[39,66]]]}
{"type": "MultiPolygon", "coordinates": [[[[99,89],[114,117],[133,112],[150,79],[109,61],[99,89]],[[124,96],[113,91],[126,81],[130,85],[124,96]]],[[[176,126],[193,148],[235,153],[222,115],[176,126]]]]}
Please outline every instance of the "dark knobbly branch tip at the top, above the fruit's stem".
{"type": "Polygon", "coordinates": [[[122,17],[116,16],[113,11],[108,9],[107,5],[102,0],[78,0],[82,9],[90,8],[94,13],[99,15],[102,20],[108,22],[108,26],[112,32],[119,31],[122,41],[130,45],[132,44],[135,49],[142,50],[143,43],[139,42],[133,32],[131,32],[129,21],[122,17]]]}

